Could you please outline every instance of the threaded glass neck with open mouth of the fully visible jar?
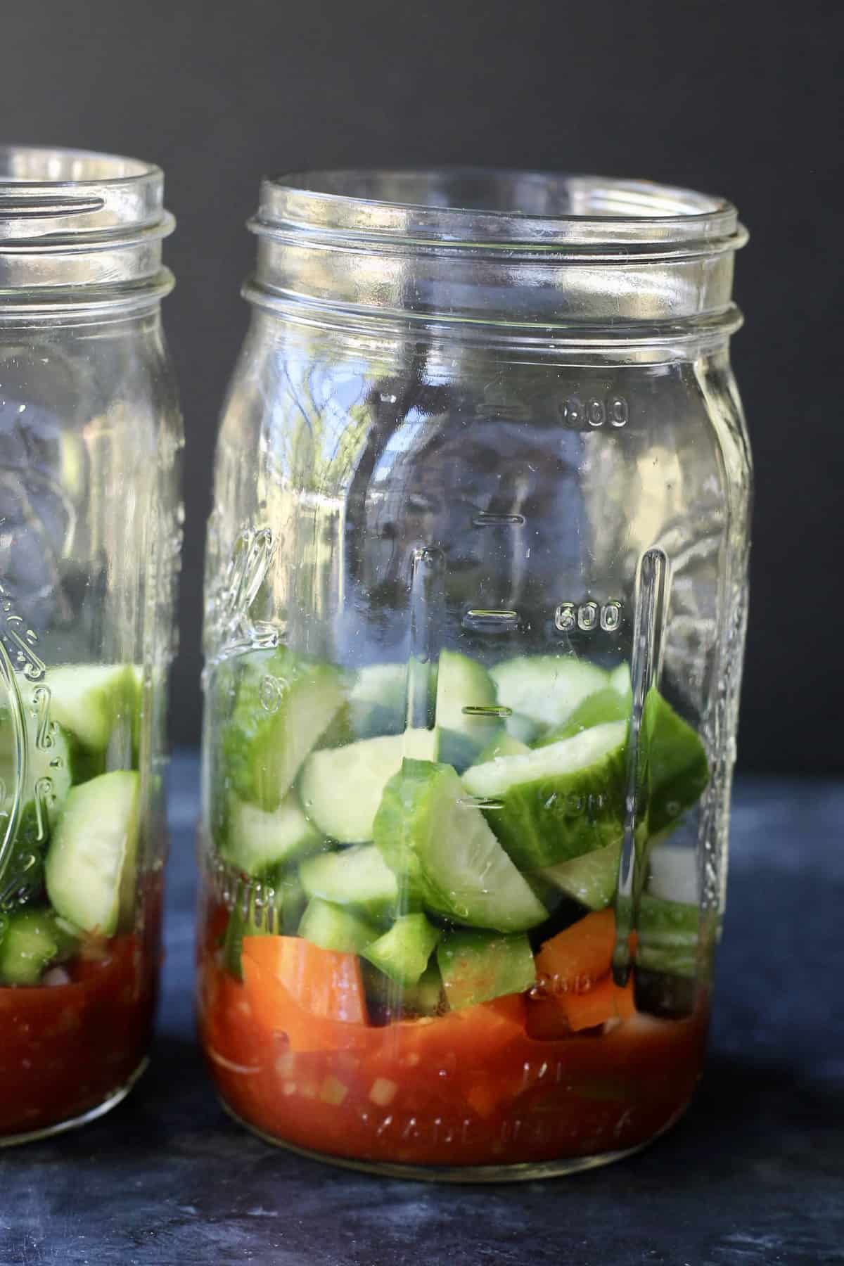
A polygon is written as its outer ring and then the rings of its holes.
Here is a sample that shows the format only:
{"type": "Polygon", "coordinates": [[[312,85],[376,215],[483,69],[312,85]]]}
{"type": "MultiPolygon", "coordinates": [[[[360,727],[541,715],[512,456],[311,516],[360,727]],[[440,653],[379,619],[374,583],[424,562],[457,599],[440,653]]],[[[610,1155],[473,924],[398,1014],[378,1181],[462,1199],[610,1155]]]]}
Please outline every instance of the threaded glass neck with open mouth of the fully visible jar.
{"type": "Polygon", "coordinates": [[[256,303],[487,325],[735,328],[731,204],[596,176],[473,168],[264,180],[256,303]]]}

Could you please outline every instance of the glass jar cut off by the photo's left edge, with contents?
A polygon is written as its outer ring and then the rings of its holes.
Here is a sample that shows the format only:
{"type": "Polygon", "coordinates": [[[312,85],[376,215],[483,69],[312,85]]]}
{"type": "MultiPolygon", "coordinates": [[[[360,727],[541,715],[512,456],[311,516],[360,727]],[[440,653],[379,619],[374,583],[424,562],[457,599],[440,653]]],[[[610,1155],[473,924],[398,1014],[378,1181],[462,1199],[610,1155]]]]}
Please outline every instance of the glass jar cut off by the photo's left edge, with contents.
{"type": "Polygon", "coordinates": [[[162,185],[0,148],[0,1144],[146,1062],[181,536],[162,185]]]}

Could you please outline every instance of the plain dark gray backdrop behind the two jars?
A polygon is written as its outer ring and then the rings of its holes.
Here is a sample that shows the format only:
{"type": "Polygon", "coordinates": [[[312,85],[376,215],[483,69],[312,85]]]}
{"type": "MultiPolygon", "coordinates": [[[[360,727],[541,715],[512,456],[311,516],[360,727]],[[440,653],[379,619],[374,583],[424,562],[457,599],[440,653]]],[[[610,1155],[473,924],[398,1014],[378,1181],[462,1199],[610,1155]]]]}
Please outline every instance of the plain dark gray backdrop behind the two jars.
{"type": "Polygon", "coordinates": [[[267,171],[491,163],[724,194],[752,232],[734,361],[757,463],[745,768],[844,770],[839,0],[30,0],[0,10],[3,139],[154,160],[187,428],[172,732],[199,736],[216,414],[267,171]]]}

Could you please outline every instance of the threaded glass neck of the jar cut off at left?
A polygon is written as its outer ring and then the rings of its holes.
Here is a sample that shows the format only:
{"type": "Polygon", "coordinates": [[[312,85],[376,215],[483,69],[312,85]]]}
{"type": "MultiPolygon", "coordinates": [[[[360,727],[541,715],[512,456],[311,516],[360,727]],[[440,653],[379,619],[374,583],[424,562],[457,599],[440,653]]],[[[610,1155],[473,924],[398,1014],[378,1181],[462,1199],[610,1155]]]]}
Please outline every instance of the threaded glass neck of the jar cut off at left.
{"type": "Polygon", "coordinates": [[[134,158],[0,147],[0,315],[10,309],[148,305],[172,287],[163,173],[134,158]]]}

